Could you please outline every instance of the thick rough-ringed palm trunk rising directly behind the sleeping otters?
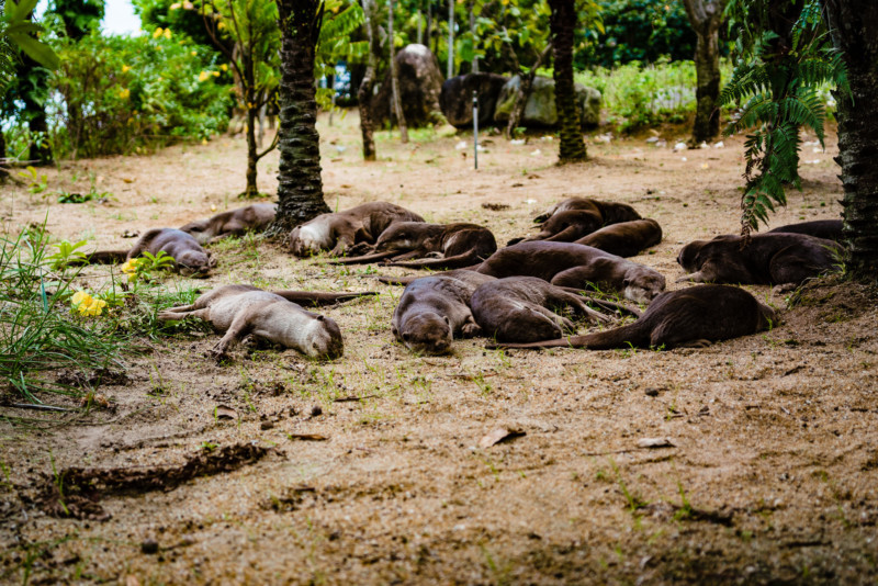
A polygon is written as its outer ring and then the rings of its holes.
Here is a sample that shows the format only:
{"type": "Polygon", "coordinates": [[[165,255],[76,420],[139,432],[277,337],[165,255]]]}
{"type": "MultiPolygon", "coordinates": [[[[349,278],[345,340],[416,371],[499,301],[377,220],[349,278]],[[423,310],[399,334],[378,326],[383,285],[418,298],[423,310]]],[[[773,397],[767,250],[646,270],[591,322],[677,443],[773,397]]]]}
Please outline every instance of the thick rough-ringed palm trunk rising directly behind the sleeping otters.
{"type": "Polygon", "coordinates": [[[279,0],[281,29],[280,167],[278,215],[271,234],[283,234],[329,212],[323,199],[320,137],[314,86],[315,46],[324,3],[320,0],[279,0]]]}

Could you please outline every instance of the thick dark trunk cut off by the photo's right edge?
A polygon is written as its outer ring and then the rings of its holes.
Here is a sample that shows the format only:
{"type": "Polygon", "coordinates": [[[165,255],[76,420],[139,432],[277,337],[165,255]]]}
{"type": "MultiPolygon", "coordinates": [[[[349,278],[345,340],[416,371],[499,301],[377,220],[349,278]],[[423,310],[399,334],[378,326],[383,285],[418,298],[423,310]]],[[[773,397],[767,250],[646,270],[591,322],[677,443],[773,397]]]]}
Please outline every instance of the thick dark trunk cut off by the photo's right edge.
{"type": "Polygon", "coordinates": [[[832,42],[847,65],[851,95],[838,104],[840,176],[844,185],[844,234],[851,245],[847,271],[878,280],[878,3],[823,0],[832,42]]]}

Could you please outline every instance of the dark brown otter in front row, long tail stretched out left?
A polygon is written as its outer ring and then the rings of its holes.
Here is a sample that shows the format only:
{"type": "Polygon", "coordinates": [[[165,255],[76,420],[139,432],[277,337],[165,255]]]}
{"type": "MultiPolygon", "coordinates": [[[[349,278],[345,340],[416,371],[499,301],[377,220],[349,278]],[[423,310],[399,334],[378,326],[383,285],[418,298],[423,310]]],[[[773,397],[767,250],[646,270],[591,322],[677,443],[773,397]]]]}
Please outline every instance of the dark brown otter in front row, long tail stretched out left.
{"type": "Polygon", "coordinates": [[[534,343],[504,343],[489,348],[676,348],[705,346],[747,336],[772,327],[777,314],[736,286],[699,285],[658,295],[633,324],[608,331],[534,343]]]}

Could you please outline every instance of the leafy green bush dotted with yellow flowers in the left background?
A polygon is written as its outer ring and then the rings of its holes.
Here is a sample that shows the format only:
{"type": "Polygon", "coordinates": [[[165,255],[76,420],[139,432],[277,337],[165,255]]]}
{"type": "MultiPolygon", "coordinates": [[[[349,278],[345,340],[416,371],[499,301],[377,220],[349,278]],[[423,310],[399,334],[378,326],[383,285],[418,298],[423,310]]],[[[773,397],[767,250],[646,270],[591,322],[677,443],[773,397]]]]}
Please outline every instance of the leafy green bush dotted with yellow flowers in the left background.
{"type": "Polygon", "coordinates": [[[139,151],[225,128],[229,78],[215,54],[157,31],[63,43],[61,67],[49,80],[64,101],[50,111],[56,155],[139,151]]]}

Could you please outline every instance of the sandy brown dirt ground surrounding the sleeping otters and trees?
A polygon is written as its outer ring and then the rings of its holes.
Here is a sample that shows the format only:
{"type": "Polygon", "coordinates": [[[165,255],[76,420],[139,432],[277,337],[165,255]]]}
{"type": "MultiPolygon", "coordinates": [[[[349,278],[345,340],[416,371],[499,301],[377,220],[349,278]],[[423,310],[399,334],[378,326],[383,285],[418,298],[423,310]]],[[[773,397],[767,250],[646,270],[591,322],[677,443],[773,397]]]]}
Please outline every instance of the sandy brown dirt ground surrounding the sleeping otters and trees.
{"type": "MultiPolygon", "coordinates": [[[[401,145],[384,133],[380,160],[364,164],[356,112],[319,126],[334,209],[385,200],[432,222],[483,223],[505,243],[563,198],[626,202],[662,225],[661,245],[635,260],[669,289],[689,286],[674,283],[682,245],[738,229],[740,137],[674,153],[685,128],[664,129],[665,147],[646,143],[650,134],[595,135],[587,162],[558,167],[556,140],[491,136],[474,171],[471,150],[455,148],[470,148],[471,135],[417,131],[401,145]]],[[[834,135],[825,153],[814,150],[802,151],[803,191],[772,225],[838,216],[834,135]]],[[[275,189],[277,161],[260,166],[266,192],[275,189]]],[[[244,164],[243,140],[229,137],[65,162],[47,171],[49,189],[74,187],[75,171],[88,189],[91,171],[117,200],[46,204],[7,184],[0,214],[7,232],[48,213],[55,237],[127,248],[124,230],[241,205],[244,164]]],[[[788,295],[747,286],[783,309],[784,323],[707,349],[502,352],[472,339],[455,341],[452,356],[417,357],[390,331],[402,290],[368,270],[297,260],[259,241],[214,251],[214,275],[194,282],[203,290],[254,283],[380,295],[325,311],[345,335],[345,356],[333,362],[238,348],[217,365],[205,356],[214,335],[183,335],[126,359],[128,382],[101,388],[113,409],[82,417],[0,407],[0,582],[878,579],[874,292],[830,279],[787,307],[788,295]],[[215,417],[217,406],[230,417],[215,417]],[[481,448],[497,428],[524,435],[481,448]],[[645,438],[671,446],[639,448],[645,438]],[[52,460],[58,471],[108,475],[92,518],[58,518],[34,503],[52,460]],[[182,464],[188,476],[173,467],[182,464]]],[[[86,278],[105,274],[97,267],[86,278]]]]}

